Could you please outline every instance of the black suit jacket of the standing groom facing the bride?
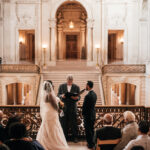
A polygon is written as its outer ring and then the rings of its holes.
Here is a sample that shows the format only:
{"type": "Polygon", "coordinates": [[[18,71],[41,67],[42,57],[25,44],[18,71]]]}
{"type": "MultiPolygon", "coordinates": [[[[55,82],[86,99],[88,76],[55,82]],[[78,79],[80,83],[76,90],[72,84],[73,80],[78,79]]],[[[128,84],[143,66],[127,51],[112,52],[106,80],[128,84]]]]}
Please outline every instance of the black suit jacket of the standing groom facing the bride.
{"type": "Polygon", "coordinates": [[[82,115],[84,118],[95,120],[96,112],[95,112],[95,105],[97,101],[96,93],[91,90],[84,98],[83,108],[82,108],[82,115]]]}

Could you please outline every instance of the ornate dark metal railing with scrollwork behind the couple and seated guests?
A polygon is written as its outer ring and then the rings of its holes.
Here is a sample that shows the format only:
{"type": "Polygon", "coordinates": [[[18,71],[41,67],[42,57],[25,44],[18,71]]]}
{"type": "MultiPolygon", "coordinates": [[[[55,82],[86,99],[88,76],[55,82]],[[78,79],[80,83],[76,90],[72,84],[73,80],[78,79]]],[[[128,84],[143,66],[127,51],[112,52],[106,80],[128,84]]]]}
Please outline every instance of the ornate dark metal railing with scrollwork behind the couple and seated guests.
{"type": "MultiPolygon", "coordinates": [[[[21,115],[22,122],[26,124],[29,136],[35,138],[41,125],[40,107],[39,106],[0,106],[0,110],[4,112],[2,124],[5,126],[8,118],[14,114],[21,115]]],[[[123,128],[123,113],[127,110],[132,111],[136,116],[136,121],[148,120],[150,122],[150,108],[144,106],[98,106],[96,107],[96,122],[95,128],[103,126],[103,116],[106,113],[113,114],[115,127],[123,128]]],[[[78,135],[85,136],[83,127],[82,107],[78,107],[78,135]]]]}

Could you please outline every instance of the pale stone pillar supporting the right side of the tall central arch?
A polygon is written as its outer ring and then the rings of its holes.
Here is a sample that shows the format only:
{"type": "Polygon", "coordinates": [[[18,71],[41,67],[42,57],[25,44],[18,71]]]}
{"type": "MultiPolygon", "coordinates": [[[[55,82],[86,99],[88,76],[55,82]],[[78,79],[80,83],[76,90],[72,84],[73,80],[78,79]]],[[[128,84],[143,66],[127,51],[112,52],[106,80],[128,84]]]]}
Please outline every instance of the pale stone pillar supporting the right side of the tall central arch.
{"type": "MultiPolygon", "coordinates": [[[[93,61],[93,19],[87,19],[87,61],[93,61]]],[[[91,65],[91,64],[89,64],[91,65]]]]}

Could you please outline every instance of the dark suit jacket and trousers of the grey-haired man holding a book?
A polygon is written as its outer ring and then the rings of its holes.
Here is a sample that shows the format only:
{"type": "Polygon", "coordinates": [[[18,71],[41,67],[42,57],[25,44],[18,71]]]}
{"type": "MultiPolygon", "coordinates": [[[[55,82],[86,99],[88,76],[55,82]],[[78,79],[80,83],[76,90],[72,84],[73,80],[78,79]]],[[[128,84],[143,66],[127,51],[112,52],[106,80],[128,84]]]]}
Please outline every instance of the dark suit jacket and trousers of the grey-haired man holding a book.
{"type": "MultiPolygon", "coordinates": [[[[61,119],[61,124],[64,130],[64,134],[66,138],[68,137],[68,129],[70,124],[72,135],[74,138],[77,137],[78,134],[78,127],[77,127],[77,105],[76,102],[80,100],[80,97],[78,100],[73,100],[71,98],[65,98],[63,99],[61,96],[62,94],[65,94],[68,92],[67,89],[67,83],[60,85],[58,90],[58,97],[64,102],[64,117],[61,119]]],[[[79,93],[80,88],[76,84],[72,84],[71,93],[79,93]]]]}

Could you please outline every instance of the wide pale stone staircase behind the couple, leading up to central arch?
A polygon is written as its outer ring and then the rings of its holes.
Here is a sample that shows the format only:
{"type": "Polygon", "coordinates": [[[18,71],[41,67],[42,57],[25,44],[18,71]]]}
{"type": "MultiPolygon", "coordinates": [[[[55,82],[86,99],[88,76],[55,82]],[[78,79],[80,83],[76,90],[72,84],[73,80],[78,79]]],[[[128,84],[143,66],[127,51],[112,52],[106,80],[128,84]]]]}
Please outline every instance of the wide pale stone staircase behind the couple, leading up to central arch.
{"type": "MultiPolygon", "coordinates": [[[[55,67],[47,67],[43,70],[43,80],[52,80],[55,86],[55,93],[58,93],[60,84],[66,82],[66,76],[72,74],[74,83],[80,87],[80,90],[85,88],[86,82],[92,80],[94,82],[94,91],[97,94],[97,105],[102,105],[100,94],[99,71],[94,67],[87,67],[85,61],[60,61],[55,67]]],[[[84,96],[87,92],[81,95],[79,105],[83,104],[84,96]]]]}

